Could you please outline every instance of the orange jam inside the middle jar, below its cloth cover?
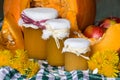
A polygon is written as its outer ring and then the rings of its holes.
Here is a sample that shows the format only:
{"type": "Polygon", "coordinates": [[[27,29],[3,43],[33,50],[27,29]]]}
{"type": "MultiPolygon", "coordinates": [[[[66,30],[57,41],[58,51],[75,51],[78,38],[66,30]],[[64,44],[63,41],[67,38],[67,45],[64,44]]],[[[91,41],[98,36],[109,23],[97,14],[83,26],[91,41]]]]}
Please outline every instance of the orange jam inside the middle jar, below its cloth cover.
{"type": "Polygon", "coordinates": [[[64,65],[64,54],[62,53],[63,40],[59,40],[59,43],[59,49],[54,38],[50,37],[47,43],[47,61],[52,66],[64,65]]]}

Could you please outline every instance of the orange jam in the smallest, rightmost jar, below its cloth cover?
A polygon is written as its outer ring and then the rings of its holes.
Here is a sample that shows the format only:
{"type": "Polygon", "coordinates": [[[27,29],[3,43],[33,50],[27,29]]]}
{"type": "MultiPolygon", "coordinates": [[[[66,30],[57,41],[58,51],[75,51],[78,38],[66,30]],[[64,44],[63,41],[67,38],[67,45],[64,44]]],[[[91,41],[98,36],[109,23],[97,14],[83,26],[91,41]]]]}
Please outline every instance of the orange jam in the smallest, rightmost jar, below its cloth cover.
{"type": "Polygon", "coordinates": [[[88,63],[87,59],[76,56],[73,53],[65,52],[65,70],[72,71],[72,70],[87,70],[88,63]]]}

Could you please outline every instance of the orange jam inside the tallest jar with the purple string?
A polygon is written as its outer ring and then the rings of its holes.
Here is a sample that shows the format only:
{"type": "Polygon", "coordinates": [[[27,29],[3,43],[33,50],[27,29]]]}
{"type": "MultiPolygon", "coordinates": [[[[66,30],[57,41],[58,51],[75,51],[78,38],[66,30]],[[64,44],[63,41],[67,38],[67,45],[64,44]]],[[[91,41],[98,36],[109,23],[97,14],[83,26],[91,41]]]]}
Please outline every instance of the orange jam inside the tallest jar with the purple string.
{"type": "Polygon", "coordinates": [[[25,50],[27,50],[30,58],[46,59],[47,41],[43,40],[42,30],[33,28],[23,28],[25,50]]]}

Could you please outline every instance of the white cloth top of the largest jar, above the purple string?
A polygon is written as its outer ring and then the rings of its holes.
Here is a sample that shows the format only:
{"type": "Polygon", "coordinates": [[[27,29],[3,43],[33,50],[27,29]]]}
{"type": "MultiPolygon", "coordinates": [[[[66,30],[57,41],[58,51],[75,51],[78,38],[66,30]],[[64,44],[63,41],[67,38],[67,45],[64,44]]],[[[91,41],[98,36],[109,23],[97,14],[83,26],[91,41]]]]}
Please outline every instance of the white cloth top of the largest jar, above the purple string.
{"type": "Polygon", "coordinates": [[[22,14],[25,14],[27,17],[35,21],[54,19],[58,17],[58,12],[54,8],[27,8],[22,11],[22,14]]]}

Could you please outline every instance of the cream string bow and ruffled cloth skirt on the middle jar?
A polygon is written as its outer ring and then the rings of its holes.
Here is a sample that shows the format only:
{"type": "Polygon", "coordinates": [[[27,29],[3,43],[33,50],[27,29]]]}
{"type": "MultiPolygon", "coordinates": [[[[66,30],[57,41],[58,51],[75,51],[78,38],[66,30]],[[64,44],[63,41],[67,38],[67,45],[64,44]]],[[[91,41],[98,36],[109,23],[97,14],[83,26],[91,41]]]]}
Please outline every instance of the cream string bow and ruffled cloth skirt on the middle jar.
{"type": "Polygon", "coordinates": [[[43,30],[43,39],[48,39],[50,36],[52,36],[55,39],[57,48],[60,48],[60,42],[59,40],[62,40],[65,37],[69,37],[69,29],[68,28],[62,28],[62,29],[52,29],[50,25],[45,25],[46,29],[43,30]]]}

